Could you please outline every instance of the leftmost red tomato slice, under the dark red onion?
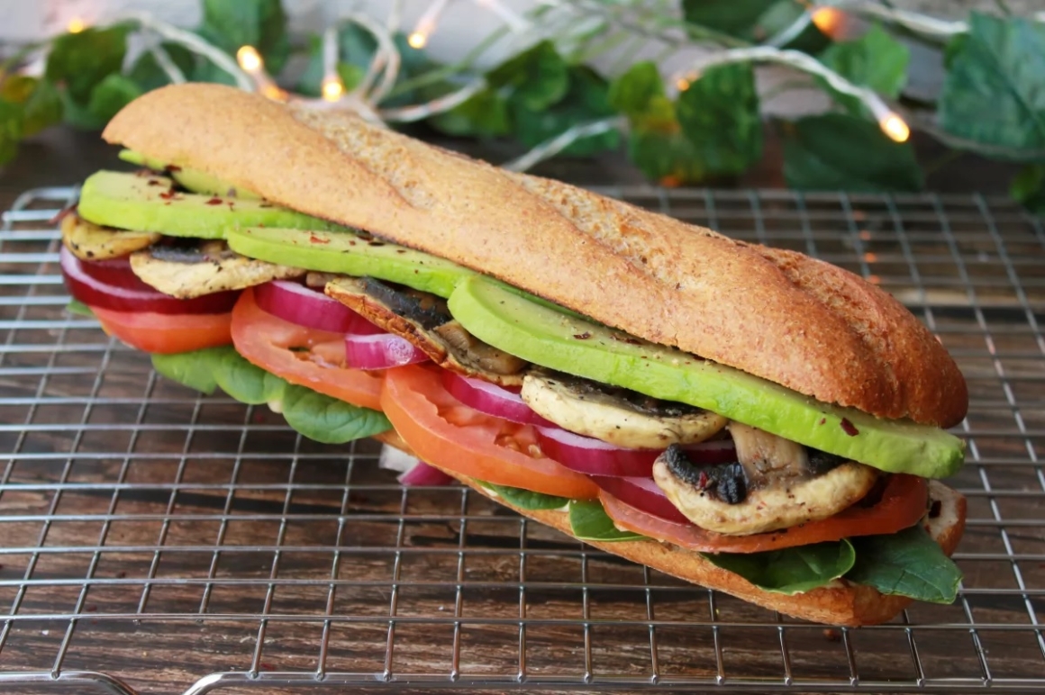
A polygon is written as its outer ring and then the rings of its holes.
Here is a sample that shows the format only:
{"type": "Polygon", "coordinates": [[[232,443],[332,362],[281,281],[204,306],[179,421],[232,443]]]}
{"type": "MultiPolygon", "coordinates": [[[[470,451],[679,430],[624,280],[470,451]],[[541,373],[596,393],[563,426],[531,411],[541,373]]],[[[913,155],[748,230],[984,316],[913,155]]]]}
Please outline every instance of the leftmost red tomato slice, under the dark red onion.
{"type": "Polygon", "coordinates": [[[91,307],[109,335],[146,353],[187,353],[232,342],[232,314],[159,314],[91,307]]]}

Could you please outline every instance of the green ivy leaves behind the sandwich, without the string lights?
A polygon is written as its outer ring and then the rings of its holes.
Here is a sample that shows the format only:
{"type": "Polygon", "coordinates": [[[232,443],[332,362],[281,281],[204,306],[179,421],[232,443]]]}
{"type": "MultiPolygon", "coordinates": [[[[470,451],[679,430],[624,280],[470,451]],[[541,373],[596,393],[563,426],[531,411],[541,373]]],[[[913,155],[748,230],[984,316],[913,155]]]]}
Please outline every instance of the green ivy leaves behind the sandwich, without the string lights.
{"type": "MultiPolygon", "coordinates": [[[[202,3],[200,37],[230,55],[239,46],[255,46],[273,74],[286,66],[293,48],[280,0],[202,3]]],[[[797,0],[681,0],[681,9],[694,41],[712,38],[730,47],[754,45],[806,11],[797,0]]],[[[136,28],[121,23],[55,38],[41,78],[15,71],[23,55],[0,65],[0,164],[15,158],[21,140],[49,125],[64,120],[79,128],[100,128],[135,97],[168,83],[169,71],[152,52],[124,68],[127,35],[136,28]]],[[[339,38],[338,73],[351,90],[364,79],[376,41],[354,24],[342,27],[339,38]]],[[[469,61],[439,65],[411,48],[403,35],[395,40],[403,65],[382,107],[431,101],[467,79],[486,78],[485,89],[467,101],[426,119],[445,135],[509,139],[534,148],[580,124],[626,122],[627,128],[600,127],[562,153],[590,157],[623,144],[649,179],[665,185],[738,175],[763,155],[761,100],[747,63],[707,68],[672,97],[651,62],[622,66],[610,79],[586,65],[612,45],[608,23],[568,50],[544,41],[482,75],[469,61]]],[[[175,43],[162,48],[190,81],[234,83],[203,55],[175,43]]],[[[810,23],[783,48],[815,56],[888,99],[900,98],[907,81],[908,48],[881,26],[855,41],[832,42],[810,23]]],[[[973,15],[968,31],[951,38],[942,50],[947,76],[937,101],[911,104],[922,113],[921,124],[955,149],[1022,163],[1012,195],[1030,210],[1045,212],[1045,24],[973,15]]],[[[319,96],[324,77],[320,39],[309,39],[305,51],[308,65],[294,89],[319,96]]],[[[835,109],[777,122],[788,186],[921,190],[925,175],[910,144],[886,137],[859,100],[820,78],[815,81],[832,96],[835,109]]]]}

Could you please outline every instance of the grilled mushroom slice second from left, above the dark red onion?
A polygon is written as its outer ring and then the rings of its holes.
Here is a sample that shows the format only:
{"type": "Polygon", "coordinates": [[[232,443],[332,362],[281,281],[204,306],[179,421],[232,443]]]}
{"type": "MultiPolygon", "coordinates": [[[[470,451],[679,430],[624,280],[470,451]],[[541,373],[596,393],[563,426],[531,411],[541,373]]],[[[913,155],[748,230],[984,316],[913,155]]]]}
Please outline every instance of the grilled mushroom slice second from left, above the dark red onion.
{"type": "Polygon", "coordinates": [[[146,285],[182,299],[305,273],[302,268],[240,256],[224,241],[201,239],[178,239],[132,254],[131,269],[146,285]]]}

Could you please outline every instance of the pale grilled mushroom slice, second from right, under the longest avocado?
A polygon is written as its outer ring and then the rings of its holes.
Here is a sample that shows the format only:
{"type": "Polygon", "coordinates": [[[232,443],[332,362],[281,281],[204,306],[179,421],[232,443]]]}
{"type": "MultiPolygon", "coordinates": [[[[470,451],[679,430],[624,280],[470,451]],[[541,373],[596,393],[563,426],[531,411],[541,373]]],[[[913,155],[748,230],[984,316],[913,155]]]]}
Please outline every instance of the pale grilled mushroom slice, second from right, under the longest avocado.
{"type": "Polygon", "coordinates": [[[520,396],[563,429],[633,449],[703,441],[726,424],[725,417],[700,408],[544,369],[527,374],[520,396]]]}

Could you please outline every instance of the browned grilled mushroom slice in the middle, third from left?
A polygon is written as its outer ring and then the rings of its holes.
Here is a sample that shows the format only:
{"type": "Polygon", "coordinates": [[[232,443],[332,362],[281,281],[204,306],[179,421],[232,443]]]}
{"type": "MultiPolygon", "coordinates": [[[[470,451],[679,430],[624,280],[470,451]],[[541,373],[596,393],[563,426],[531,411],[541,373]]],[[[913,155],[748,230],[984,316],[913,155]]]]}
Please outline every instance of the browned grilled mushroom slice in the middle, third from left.
{"type": "Polygon", "coordinates": [[[326,293],[389,333],[405,338],[434,362],[457,374],[518,386],[528,365],[475,338],[454,320],[446,301],[372,278],[339,278],[326,293]]]}

